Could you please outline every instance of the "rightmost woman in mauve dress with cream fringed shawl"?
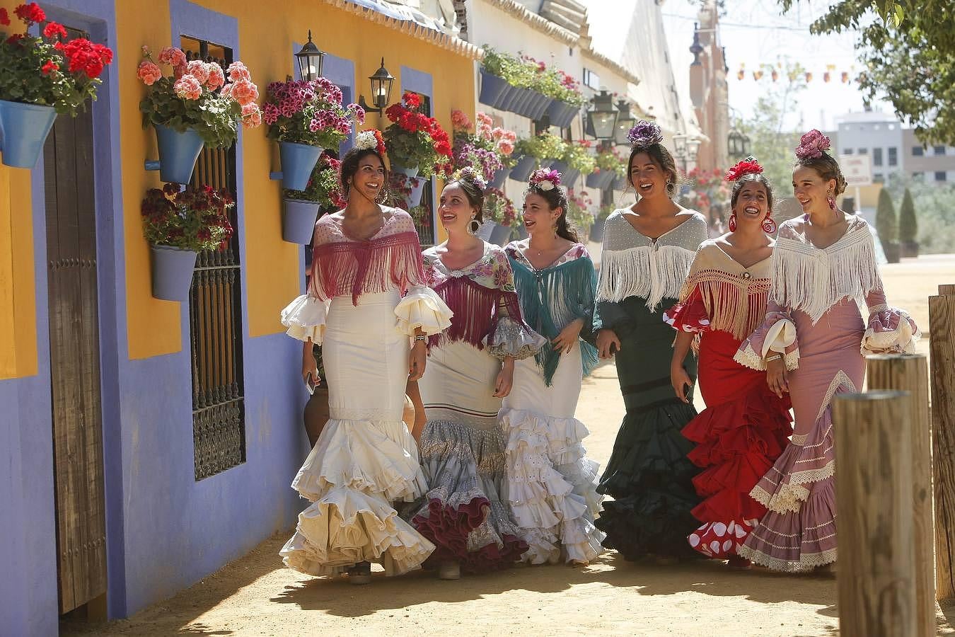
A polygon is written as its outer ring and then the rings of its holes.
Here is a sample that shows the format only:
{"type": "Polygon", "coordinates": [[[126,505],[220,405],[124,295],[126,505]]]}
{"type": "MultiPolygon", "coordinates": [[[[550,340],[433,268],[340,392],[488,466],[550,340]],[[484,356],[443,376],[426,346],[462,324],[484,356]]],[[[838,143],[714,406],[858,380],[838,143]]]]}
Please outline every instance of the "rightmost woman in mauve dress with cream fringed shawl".
{"type": "Polygon", "coordinates": [[[765,320],[735,354],[766,370],[796,414],[792,441],[750,492],[769,512],[736,548],[780,571],[836,562],[833,396],[861,390],[863,354],[911,351],[919,335],[907,313],[886,305],[869,224],[836,206],[845,180],[827,150],[817,130],[800,139],[793,186],[805,214],[779,227],[765,320]]]}

